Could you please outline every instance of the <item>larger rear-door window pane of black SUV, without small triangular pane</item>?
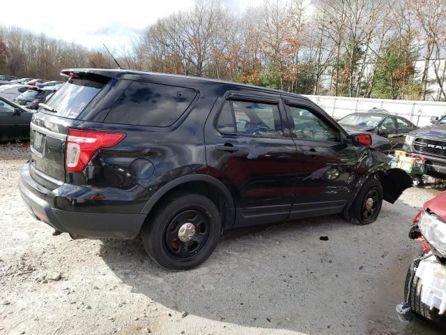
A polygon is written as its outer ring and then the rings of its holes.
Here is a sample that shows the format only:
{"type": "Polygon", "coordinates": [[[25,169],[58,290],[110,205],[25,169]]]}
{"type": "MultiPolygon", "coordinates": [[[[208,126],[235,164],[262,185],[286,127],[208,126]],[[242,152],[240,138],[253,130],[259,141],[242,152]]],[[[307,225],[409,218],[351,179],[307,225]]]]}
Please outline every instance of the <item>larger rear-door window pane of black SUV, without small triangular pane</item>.
{"type": "Polygon", "coordinates": [[[238,134],[283,136],[277,105],[232,101],[238,134]]]}

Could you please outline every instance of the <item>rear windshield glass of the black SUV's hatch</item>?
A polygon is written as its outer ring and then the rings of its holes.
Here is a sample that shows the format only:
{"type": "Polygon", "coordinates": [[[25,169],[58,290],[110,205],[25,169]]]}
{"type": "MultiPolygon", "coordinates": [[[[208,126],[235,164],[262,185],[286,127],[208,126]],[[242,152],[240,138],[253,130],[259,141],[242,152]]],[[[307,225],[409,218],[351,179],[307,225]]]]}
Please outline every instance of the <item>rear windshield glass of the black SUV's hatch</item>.
{"type": "MultiPolygon", "coordinates": [[[[53,107],[59,117],[75,119],[104,86],[104,82],[70,79],[56,91],[47,105],[53,107]]],[[[40,108],[39,111],[54,114],[54,112],[48,112],[43,108],[40,108]]]]}

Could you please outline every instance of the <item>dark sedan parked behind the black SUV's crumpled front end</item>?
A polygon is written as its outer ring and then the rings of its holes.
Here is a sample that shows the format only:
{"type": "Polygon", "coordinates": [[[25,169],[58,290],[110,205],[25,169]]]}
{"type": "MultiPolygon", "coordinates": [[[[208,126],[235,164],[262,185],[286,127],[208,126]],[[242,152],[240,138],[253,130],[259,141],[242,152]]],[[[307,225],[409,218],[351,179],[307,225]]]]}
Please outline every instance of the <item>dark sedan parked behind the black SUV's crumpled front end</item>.
{"type": "Polygon", "coordinates": [[[408,119],[382,111],[353,113],[343,117],[338,122],[344,128],[367,131],[396,141],[398,144],[395,145],[394,149],[403,147],[406,135],[418,128],[408,119]]]}

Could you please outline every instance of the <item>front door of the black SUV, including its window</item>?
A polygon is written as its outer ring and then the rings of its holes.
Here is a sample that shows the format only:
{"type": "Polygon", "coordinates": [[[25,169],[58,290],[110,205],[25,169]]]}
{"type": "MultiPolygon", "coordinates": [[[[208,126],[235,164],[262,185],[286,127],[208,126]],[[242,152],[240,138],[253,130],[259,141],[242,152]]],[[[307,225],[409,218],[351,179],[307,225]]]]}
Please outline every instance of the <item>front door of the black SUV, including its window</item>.
{"type": "Polygon", "coordinates": [[[297,147],[296,187],[290,218],[341,212],[355,188],[355,147],[317,105],[285,98],[297,147]]]}

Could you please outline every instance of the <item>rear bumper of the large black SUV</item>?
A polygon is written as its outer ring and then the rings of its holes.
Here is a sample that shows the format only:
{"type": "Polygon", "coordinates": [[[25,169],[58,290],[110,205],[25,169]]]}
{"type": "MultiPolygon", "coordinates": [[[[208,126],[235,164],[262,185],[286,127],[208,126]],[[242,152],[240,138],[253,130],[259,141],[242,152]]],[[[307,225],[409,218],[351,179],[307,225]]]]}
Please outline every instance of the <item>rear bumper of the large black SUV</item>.
{"type": "Polygon", "coordinates": [[[49,191],[36,184],[29,175],[27,164],[20,174],[19,190],[31,216],[74,237],[134,239],[146,218],[145,214],[86,213],[56,209],[48,199],[54,198],[55,194],[60,196],[60,192],[57,188],[49,191]]]}

